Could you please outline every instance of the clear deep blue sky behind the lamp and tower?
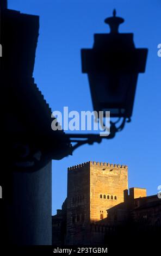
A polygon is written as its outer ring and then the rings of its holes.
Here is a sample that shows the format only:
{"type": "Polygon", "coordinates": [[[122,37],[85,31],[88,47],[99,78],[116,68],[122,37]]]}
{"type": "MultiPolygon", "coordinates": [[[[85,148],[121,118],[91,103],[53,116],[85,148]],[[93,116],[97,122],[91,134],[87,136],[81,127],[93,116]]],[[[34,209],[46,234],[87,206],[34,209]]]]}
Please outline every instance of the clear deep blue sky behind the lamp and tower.
{"type": "Polygon", "coordinates": [[[10,9],[40,15],[35,82],[52,107],[92,111],[87,76],[81,72],[80,49],[91,48],[94,33],[108,33],[103,22],[116,8],[125,19],[120,33],[134,33],[136,47],[148,48],[145,74],[140,74],[132,122],[112,140],[84,145],[73,156],[53,161],[52,208],[66,197],[67,167],[86,161],[127,164],[129,187],[156,194],[161,184],[161,43],[160,0],[9,0],[10,9]]]}

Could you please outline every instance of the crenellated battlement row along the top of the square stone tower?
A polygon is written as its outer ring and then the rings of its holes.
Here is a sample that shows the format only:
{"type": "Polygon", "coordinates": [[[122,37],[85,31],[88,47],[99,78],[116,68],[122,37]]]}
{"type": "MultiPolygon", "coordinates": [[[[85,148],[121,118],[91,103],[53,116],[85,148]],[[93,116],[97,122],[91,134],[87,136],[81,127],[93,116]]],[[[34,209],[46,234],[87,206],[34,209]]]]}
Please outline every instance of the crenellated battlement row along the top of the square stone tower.
{"type": "Polygon", "coordinates": [[[95,162],[95,161],[88,161],[88,162],[84,162],[82,164],[77,164],[76,166],[71,166],[68,167],[67,170],[78,170],[78,169],[82,169],[83,167],[89,167],[89,166],[98,166],[98,167],[110,167],[110,168],[114,168],[114,169],[125,169],[128,170],[128,166],[123,165],[123,164],[113,164],[113,163],[107,163],[107,162],[95,162]]]}

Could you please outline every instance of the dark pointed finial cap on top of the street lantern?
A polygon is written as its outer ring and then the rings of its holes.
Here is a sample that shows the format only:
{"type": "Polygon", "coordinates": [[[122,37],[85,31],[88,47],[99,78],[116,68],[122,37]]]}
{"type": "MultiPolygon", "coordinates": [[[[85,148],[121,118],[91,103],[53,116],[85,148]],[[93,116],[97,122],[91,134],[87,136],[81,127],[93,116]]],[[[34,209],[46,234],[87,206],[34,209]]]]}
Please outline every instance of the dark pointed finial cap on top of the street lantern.
{"type": "Polygon", "coordinates": [[[124,22],[121,17],[116,17],[116,9],[113,10],[113,17],[108,17],[104,20],[110,26],[110,33],[119,33],[119,25],[124,22]]]}

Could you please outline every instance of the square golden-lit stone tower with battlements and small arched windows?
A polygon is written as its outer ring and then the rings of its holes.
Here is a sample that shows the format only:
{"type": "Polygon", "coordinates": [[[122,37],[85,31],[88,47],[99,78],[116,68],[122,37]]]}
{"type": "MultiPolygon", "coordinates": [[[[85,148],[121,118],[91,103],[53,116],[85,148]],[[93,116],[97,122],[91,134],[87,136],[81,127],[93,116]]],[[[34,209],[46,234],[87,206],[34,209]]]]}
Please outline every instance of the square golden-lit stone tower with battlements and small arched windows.
{"type": "Polygon", "coordinates": [[[68,168],[67,244],[90,244],[90,224],[107,217],[107,209],[124,201],[128,168],[86,162],[68,168]]]}

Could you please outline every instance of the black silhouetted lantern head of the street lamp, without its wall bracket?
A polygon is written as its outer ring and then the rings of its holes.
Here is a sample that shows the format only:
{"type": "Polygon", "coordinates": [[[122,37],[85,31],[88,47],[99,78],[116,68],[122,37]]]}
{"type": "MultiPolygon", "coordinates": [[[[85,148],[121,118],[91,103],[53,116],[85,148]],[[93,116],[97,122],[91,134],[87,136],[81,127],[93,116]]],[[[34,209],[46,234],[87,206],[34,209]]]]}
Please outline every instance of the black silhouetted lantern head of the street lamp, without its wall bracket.
{"type": "MultiPolygon", "coordinates": [[[[109,34],[95,34],[92,49],[82,49],[82,72],[88,74],[95,111],[110,111],[110,118],[131,120],[137,78],[145,72],[147,48],[135,48],[132,33],[119,33],[124,20],[113,17],[105,21],[109,34]]],[[[111,124],[114,124],[111,122],[111,124]]]]}

